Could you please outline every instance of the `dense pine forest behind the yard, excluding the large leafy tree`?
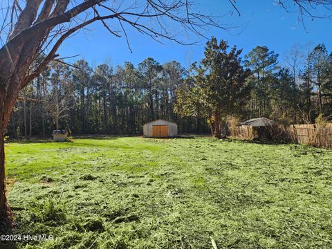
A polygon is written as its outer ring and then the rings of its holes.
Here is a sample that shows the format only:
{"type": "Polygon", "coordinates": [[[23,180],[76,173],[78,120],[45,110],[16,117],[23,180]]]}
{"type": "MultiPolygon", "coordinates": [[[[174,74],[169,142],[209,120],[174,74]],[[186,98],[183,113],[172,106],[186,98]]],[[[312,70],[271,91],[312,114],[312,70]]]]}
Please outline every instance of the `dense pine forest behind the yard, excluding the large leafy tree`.
{"type": "MultiPolygon", "coordinates": [[[[238,50],[237,57],[243,72],[249,72],[250,97],[237,120],[266,117],[287,125],[331,118],[332,53],[324,44],[310,49],[293,46],[282,57],[257,46],[248,55],[238,50]]],[[[205,116],[183,116],[174,108],[181,105],[177,96],[190,84],[192,73],[178,62],[160,64],[151,57],[137,66],[125,62],[115,68],[91,68],[82,59],[73,65],[54,61],[21,91],[7,134],[50,136],[53,129],[138,134],[142,124],[158,118],[178,123],[181,133],[207,133],[205,116]]]]}

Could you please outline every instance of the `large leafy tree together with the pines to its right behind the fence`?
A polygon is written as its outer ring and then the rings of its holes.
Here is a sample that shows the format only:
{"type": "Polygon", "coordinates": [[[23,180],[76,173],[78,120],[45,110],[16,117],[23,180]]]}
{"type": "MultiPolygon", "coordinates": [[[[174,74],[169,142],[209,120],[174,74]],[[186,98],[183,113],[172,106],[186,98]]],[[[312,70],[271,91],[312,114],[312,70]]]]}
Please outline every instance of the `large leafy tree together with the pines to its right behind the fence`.
{"type": "Polygon", "coordinates": [[[324,44],[306,53],[293,46],[285,66],[266,46],[243,58],[241,53],[212,37],[178,88],[176,112],[205,118],[218,138],[227,136],[230,122],[248,118],[271,118],[285,126],[332,118],[332,53],[324,44]]]}

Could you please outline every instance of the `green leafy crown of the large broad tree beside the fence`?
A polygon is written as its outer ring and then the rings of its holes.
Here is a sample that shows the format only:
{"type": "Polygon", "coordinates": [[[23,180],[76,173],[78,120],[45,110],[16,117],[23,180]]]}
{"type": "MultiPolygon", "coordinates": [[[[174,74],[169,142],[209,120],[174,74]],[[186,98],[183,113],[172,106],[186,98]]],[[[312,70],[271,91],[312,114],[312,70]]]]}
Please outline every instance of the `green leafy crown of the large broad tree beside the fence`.
{"type": "Polygon", "coordinates": [[[217,113],[222,120],[241,112],[250,94],[247,82],[250,71],[241,65],[241,50],[236,46],[230,48],[224,40],[218,43],[212,37],[204,55],[198,65],[192,64],[192,74],[177,91],[177,113],[207,119],[217,113]]]}

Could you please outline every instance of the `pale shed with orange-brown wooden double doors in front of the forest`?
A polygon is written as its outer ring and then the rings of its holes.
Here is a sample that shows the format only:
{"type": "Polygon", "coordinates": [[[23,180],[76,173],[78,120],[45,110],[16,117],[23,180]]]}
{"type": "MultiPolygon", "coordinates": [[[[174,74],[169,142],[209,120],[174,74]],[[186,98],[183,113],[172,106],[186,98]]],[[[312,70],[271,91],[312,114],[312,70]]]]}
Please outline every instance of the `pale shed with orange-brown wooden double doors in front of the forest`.
{"type": "Polygon", "coordinates": [[[175,138],[178,136],[178,125],[166,120],[155,120],[143,125],[145,138],[175,138]]]}

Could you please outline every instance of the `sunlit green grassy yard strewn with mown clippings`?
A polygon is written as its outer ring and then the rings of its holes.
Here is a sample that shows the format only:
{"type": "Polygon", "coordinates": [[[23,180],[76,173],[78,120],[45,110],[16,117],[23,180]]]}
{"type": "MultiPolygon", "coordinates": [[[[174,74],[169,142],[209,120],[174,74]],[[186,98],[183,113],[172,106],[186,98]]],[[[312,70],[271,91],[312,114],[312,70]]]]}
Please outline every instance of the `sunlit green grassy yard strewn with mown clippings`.
{"type": "Polygon", "coordinates": [[[54,238],[18,248],[332,248],[326,149],[110,136],[6,151],[13,234],[54,238]]]}

